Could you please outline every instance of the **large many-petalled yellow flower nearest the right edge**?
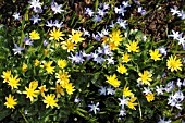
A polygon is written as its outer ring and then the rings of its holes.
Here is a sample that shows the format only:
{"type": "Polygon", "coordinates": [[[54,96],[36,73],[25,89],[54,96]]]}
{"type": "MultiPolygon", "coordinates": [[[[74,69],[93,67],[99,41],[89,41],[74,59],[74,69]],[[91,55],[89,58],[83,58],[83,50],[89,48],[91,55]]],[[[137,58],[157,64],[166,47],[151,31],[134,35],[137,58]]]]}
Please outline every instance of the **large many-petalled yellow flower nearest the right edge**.
{"type": "Polygon", "coordinates": [[[183,65],[182,65],[181,59],[177,60],[176,56],[174,58],[171,56],[169,57],[169,60],[166,61],[166,66],[168,69],[171,69],[171,72],[173,72],[177,70],[182,71],[181,66],[183,65]]]}

